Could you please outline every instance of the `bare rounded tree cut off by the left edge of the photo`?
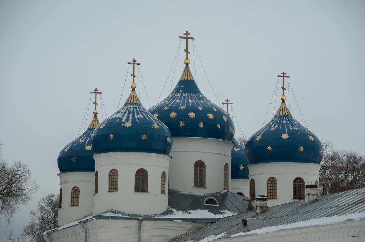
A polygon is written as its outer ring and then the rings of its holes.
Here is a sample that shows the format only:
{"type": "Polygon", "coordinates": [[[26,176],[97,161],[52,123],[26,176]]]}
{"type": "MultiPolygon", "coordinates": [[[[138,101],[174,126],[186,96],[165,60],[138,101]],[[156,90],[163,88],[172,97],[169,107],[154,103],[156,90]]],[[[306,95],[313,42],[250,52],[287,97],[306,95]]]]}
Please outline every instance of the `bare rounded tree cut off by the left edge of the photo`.
{"type": "Polygon", "coordinates": [[[37,182],[31,180],[28,165],[14,161],[9,166],[0,157],[0,216],[10,223],[20,204],[28,204],[31,194],[38,190],[37,182]]]}

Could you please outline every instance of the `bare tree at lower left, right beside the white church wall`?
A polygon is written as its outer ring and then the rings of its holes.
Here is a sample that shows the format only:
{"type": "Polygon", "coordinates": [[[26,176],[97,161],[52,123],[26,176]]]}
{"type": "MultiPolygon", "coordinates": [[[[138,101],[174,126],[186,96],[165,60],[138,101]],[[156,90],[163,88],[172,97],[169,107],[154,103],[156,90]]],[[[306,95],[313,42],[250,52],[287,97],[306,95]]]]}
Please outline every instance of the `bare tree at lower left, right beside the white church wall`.
{"type": "Polygon", "coordinates": [[[59,195],[48,194],[38,202],[37,210],[29,212],[30,222],[23,228],[23,237],[32,242],[44,242],[42,234],[58,225],[59,195]]]}

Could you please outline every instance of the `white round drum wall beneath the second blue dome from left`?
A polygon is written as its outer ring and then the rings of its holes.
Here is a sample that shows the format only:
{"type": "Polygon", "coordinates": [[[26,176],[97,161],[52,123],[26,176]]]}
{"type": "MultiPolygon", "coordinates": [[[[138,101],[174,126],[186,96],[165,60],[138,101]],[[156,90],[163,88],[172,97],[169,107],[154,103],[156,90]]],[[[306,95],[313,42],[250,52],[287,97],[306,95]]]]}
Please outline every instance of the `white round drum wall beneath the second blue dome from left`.
{"type": "Polygon", "coordinates": [[[170,156],[141,152],[110,152],[94,155],[99,175],[98,193],[94,195],[94,215],[114,209],[128,214],[159,214],[168,206],[170,156]],[[135,192],[135,173],[148,172],[148,192],[135,192]],[[119,174],[118,192],[108,192],[109,172],[119,174]],[[166,194],[161,194],[161,174],[166,172],[166,194]]]}

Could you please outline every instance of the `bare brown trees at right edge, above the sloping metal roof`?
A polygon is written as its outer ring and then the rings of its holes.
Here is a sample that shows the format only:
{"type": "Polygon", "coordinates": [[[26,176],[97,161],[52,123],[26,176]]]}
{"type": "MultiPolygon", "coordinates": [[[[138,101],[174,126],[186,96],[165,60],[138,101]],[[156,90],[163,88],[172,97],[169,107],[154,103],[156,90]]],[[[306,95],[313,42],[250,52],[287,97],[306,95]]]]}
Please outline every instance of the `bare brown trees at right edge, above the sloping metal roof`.
{"type": "Polygon", "coordinates": [[[321,195],[365,187],[365,157],[357,152],[335,150],[322,142],[323,159],[319,171],[321,195]]]}

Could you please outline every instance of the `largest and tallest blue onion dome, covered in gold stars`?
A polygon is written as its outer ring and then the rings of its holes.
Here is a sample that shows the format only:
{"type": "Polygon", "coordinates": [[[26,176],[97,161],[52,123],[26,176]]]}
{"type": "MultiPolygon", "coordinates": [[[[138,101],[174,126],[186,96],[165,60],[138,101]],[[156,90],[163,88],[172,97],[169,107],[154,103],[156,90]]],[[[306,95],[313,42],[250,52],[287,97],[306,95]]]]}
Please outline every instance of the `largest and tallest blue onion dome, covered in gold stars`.
{"type": "Polygon", "coordinates": [[[204,97],[188,65],[170,95],[151,107],[149,112],[170,129],[173,137],[233,140],[231,117],[204,97]]]}

